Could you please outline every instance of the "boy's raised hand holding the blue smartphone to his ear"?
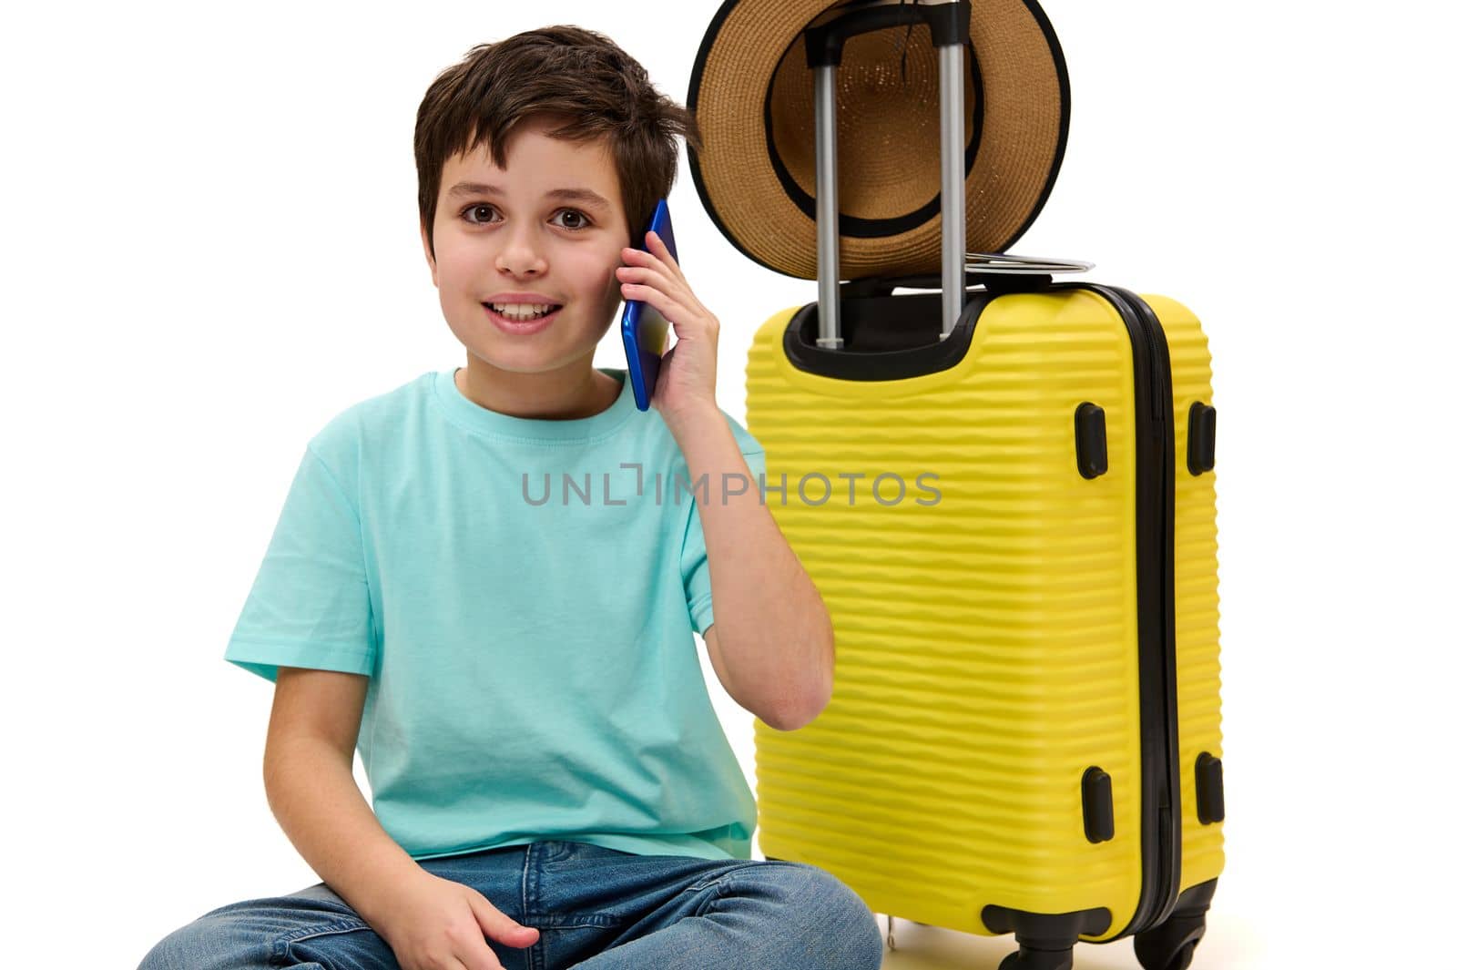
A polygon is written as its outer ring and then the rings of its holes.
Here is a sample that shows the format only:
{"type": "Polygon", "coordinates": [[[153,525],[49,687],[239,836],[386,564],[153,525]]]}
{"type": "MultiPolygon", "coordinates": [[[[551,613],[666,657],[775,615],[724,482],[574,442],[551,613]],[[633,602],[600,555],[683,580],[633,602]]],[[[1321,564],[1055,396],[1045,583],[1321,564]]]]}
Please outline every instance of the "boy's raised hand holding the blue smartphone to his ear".
{"type": "Polygon", "coordinates": [[[714,386],[718,380],[718,318],[710,313],[657,233],[647,234],[647,251],[627,248],[618,267],[624,300],[643,300],[672,322],[678,342],[663,354],[651,405],[675,428],[682,418],[707,411],[718,414],[714,386]]]}

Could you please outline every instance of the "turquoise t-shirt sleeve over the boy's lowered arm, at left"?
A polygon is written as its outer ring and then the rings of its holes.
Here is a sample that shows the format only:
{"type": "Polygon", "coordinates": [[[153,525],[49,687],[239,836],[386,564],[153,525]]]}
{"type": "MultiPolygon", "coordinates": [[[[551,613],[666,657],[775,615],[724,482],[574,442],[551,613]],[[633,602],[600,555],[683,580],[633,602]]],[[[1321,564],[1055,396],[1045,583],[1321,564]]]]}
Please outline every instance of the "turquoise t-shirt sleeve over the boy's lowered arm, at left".
{"type": "Polygon", "coordinates": [[[373,671],[373,616],[356,510],[313,443],[306,446],[224,660],[274,682],[280,666],[373,671]]]}

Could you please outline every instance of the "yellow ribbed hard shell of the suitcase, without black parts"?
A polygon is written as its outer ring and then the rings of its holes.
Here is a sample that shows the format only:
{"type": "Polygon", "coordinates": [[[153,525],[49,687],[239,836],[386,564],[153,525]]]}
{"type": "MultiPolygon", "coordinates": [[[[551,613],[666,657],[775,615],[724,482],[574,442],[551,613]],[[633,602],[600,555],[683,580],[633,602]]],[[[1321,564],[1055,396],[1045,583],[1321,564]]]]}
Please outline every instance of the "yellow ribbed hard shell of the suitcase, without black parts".
{"type": "MultiPolygon", "coordinates": [[[[1201,823],[1195,792],[1199,756],[1222,756],[1215,481],[1185,460],[1190,406],[1212,390],[1198,319],[1147,303],[1173,377],[1183,890],[1224,865],[1222,824],[1201,823]]],[[[836,669],[809,727],[755,722],[765,855],[832,871],[876,912],[963,932],[994,932],[988,906],[1106,907],[1106,932],[1084,939],[1145,929],[1129,926],[1145,820],[1128,325],[1088,290],[1002,294],[951,367],[851,380],[790,358],[797,312],[755,335],[747,428],[765,447],[765,501],[833,619],[836,669]],[[1106,417],[1107,470],[1091,479],[1075,443],[1084,402],[1106,417]],[[1085,829],[1090,768],[1112,782],[1101,842],[1085,829]]]]}

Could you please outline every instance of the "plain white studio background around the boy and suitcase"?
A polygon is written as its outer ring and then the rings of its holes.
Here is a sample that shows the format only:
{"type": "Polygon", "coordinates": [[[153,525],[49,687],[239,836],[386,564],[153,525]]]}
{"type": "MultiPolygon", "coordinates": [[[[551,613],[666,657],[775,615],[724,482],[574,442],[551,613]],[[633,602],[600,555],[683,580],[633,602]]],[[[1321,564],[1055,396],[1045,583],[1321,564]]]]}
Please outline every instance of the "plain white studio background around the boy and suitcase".
{"type": "MultiPolygon", "coordinates": [[[[271,687],[221,655],[307,437],[465,363],[417,230],[420,98],[471,45],[561,22],[685,100],[715,7],[7,15],[7,963],[136,966],[208,909],[318,880],[264,797],[271,687]]],[[[1435,966],[1453,899],[1453,16],[1045,9],[1071,137],[1013,251],[1179,299],[1214,354],[1230,814],[1196,966],[1435,966]]],[[[742,419],[753,331],[814,284],[717,233],[686,153],[670,204],[742,419]]],[[[621,354],[608,339],[599,364],[621,354]]],[[[752,781],[750,717],[705,674],[752,781]]],[[[982,970],[1008,948],[896,935],[887,967],[982,970]]],[[[1125,941],[1080,947],[1078,966],[1135,964],[1125,941]]]]}

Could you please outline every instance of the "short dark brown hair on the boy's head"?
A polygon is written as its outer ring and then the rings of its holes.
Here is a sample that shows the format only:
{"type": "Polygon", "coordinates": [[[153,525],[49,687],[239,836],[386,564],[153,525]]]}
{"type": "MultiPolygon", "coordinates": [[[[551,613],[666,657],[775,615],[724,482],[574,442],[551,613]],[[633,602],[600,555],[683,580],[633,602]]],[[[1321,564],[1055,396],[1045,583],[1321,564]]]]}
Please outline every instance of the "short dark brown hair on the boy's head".
{"type": "Polygon", "coordinates": [[[606,140],[631,245],[678,176],[675,137],[702,150],[692,114],[659,93],[643,66],[602,33],[557,25],[478,44],[431,82],[415,115],[420,218],[431,259],[446,159],[484,141],[491,163],[504,169],[513,131],[533,115],[565,121],[548,131],[554,138],[606,140]]]}

